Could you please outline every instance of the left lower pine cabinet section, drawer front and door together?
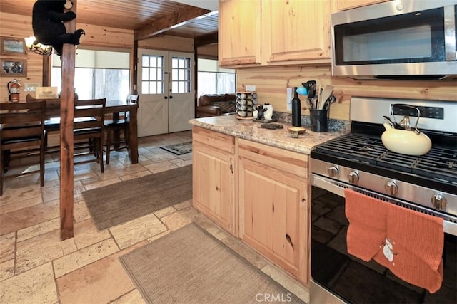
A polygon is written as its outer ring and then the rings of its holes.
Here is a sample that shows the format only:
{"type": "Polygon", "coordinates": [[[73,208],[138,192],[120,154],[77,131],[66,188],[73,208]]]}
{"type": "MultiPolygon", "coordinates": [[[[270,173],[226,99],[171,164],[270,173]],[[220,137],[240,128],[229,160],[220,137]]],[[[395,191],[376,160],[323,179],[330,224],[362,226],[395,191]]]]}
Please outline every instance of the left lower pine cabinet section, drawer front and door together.
{"type": "Polygon", "coordinates": [[[194,207],[237,236],[235,137],[194,127],[192,149],[194,207]]]}

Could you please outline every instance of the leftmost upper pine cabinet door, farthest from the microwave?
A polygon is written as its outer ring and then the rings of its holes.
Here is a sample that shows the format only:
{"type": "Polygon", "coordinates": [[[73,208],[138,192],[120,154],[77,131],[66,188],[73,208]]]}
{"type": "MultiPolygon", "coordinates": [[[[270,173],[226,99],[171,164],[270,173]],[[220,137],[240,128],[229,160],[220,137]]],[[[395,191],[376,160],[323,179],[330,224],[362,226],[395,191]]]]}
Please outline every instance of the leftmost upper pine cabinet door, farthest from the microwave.
{"type": "Polygon", "coordinates": [[[261,1],[219,1],[219,64],[260,63],[261,1]]]}

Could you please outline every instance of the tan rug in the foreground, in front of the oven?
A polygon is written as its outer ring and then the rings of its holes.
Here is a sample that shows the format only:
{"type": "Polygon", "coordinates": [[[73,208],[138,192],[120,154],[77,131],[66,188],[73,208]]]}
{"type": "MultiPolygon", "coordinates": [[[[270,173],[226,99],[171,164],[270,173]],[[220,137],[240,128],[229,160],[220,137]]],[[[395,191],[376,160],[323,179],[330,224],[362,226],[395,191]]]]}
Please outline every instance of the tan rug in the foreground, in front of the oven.
{"type": "Polygon", "coordinates": [[[148,303],[303,303],[194,223],[119,260],[148,303]]]}

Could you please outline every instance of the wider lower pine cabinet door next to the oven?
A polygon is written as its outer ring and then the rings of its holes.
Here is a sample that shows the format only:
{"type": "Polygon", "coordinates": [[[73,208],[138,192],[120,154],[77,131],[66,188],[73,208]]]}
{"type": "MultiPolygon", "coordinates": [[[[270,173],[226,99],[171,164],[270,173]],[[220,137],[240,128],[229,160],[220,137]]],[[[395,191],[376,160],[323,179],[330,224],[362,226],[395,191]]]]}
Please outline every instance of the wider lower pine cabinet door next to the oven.
{"type": "Polygon", "coordinates": [[[249,159],[238,166],[241,238],[307,284],[306,179],[249,159]]]}

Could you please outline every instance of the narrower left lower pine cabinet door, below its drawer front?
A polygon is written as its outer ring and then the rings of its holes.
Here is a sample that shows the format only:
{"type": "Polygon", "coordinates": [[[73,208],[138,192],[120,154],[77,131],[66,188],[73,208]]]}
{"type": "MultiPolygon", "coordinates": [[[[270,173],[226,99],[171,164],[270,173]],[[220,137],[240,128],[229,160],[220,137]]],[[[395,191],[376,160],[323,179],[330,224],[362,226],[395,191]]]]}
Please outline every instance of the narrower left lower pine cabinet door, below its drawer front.
{"type": "Polygon", "coordinates": [[[192,148],[194,207],[236,235],[233,154],[195,140],[192,148]]]}

